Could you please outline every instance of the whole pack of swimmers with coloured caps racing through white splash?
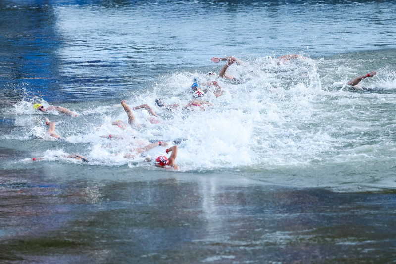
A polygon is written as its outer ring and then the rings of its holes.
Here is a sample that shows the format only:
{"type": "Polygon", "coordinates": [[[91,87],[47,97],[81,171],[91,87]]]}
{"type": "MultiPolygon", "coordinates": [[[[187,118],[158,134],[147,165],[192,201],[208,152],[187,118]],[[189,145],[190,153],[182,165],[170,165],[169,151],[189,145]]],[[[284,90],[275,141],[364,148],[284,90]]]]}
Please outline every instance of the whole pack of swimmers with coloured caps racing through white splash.
{"type": "MultiPolygon", "coordinates": [[[[277,64],[285,64],[287,62],[289,62],[290,60],[294,60],[294,59],[307,59],[306,57],[300,56],[300,55],[286,55],[286,56],[280,56],[278,58],[276,58],[277,60],[277,64]]],[[[231,56],[231,57],[224,57],[224,58],[218,58],[218,57],[213,57],[211,58],[212,62],[218,63],[220,61],[227,61],[227,63],[222,67],[222,69],[220,70],[218,76],[227,80],[234,80],[237,81],[237,78],[235,78],[234,76],[230,75],[227,73],[227,69],[229,68],[229,66],[231,66],[232,64],[236,63],[237,65],[242,65],[242,66],[246,66],[246,64],[231,56]]],[[[347,85],[351,85],[353,87],[356,87],[361,80],[367,78],[367,77],[373,77],[377,74],[377,72],[372,71],[370,73],[358,76],[356,78],[354,78],[353,80],[349,81],[347,83],[347,85]]],[[[198,78],[194,79],[194,83],[191,86],[192,92],[193,92],[193,100],[190,100],[188,102],[188,104],[183,105],[183,109],[188,109],[188,110],[194,110],[196,107],[198,107],[199,110],[205,110],[205,106],[214,106],[212,103],[201,100],[202,97],[205,95],[205,93],[207,93],[209,90],[212,90],[213,94],[215,95],[215,97],[219,97],[221,95],[223,95],[223,89],[222,87],[219,85],[219,83],[217,81],[212,81],[211,78],[212,77],[216,77],[216,73],[215,72],[209,72],[207,73],[207,77],[208,77],[208,81],[205,82],[200,82],[198,78]],[[202,85],[202,86],[201,86],[202,85]],[[205,88],[202,88],[205,87],[205,88]]],[[[155,100],[156,104],[159,107],[163,107],[166,108],[168,110],[174,110],[176,108],[179,108],[181,105],[180,104],[169,104],[166,105],[163,100],[161,99],[156,99],[155,100]]],[[[133,112],[131,110],[131,108],[127,105],[125,100],[121,101],[121,106],[124,108],[124,111],[126,112],[127,116],[128,116],[128,124],[130,126],[134,125],[135,122],[135,117],[133,115],[133,112]]],[[[33,106],[34,109],[37,109],[41,112],[47,112],[47,111],[57,111],[59,113],[65,114],[65,115],[70,115],[70,116],[74,116],[77,117],[77,114],[64,108],[61,106],[49,106],[48,108],[45,108],[44,106],[42,106],[41,104],[34,104],[33,106]]],[[[132,108],[133,110],[138,110],[138,109],[146,109],[148,111],[148,113],[152,116],[149,120],[151,123],[159,123],[159,116],[155,113],[155,111],[152,109],[151,106],[148,106],[147,104],[142,104],[139,106],[135,106],[132,108]]],[[[60,139],[60,136],[58,134],[55,133],[55,122],[51,122],[49,121],[48,118],[46,118],[46,125],[49,126],[49,129],[47,130],[47,133],[51,136],[54,137],[56,139],[60,139]]],[[[112,125],[116,125],[122,129],[127,129],[128,126],[122,121],[122,120],[117,120],[112,122],[112,125]]],[[[103,138],[110,138],[110,139],[121,139],[122,136],[119,135],[113,135],[113,134],[109,134],[109,135],[103,135],[101,136],[103,138]]],[[[144,152],[147,152],[157,146],[163,146],[163,147],[167,147],[169,145],[169,143],[167,142],[155,142],[155,143],[150,143],[147,145],[143,145],[141,143],[142,147],[138,147],[138,148],[134,148],[131,149],[131,152],[133,154],[125,154],[124,157],[125,158],[135,158],[136,155],[140,155],[144,152]]],[[[178,151],[178,147],[177,145],[173,145],[170,148],[167,148],[165,150],[166,154],[171,153],[171,155],[169,156],[169,158],[167,158],[164,155],[161,155],[159,157],[157,157],[155,159],[155,165],[158,167],[162,167],[162,168],[167,168],[167,169],[178,169],[178,165],[175,163],[175,159],[177,157],[177,151],[178,151]]],[[[79,155],[79,154],[72,154],[72,155],[67,155],[67,156],[63,156],[65,158],[73,158],[76,160],[81,160],[84,162],[89,162],[88,158],[79,155]]],[[[33,160],[40,160],[42,158],[33,158],[33,160]]],[[[146,157],[145,158],[146,162],[151,162],[151,158],[146,157]]]]}

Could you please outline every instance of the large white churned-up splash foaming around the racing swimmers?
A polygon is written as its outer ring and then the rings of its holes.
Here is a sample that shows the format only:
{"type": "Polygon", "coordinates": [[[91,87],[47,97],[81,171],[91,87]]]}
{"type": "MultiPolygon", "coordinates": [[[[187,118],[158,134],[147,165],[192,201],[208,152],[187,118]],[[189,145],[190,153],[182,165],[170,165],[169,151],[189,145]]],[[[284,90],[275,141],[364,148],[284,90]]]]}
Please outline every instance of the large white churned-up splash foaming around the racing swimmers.
{"type": "MultiPolygon", "coordinates": [[[[177,163],[183,171],[242,168],[260,171],[356,159],[345,151],[334,156],[353,144],[350,133],[367,127],[362,122],[342,129],[350,120],[359,120],[356,106],[367,100],[359,93],[345,93],[341,86],[333,88],[338,81],[345,83],[340,72],[353,72],[351,68],[340,66],[343,64],[340,62],[309,58],[278,62],[262,57],[247,60],[246,67],[230,67],[230,74],[238,81],[207,77],[206,73],[213,68],[178,71],[161,76],[152,87],[122,98],[131,108],[148,104],[159,116],[155,117],[158,122],[152,122],[152,115],[145,109],[137,109],[133,110],[135,124],[123,128],[113,125],[116,120],[127,124],[121,99],[69,105],[80,113],[78,118],[33,111],[33,102],[49,105],[40,98],[21,100],[15,110],[20,119],[23,115],[34,116],[26,122],[33,127],[25,130],[26,139],[52,142],[43,124],[44,116],[50,116],[56,122],[62,144],[72,150],[69,152],[81,153],[92,160],[91,164],[100,166],[151,169],[152,164],[145,163],[145,157],[166,155],[166,147],[157,146],[142,155],[134,154],[134,149],[158,141],[179,145],[177,163]],[[324,71],[327,73],[323,74],[324,71]],[[213,106],[185,107],[193,99],[191,84],[196,81],[209,88],[202,100],[213,106]],[[213,90],[204,85],[208,81],[217,81],[223,95],[216,98],[213,90]],[[156,99],[179,107],[160,107],[156,99]],[[332,104],[340,106],[335,108],[332,104]]],[[[395,84],[392,70],[384,68],[377,76],[381,78],[369,81],[392,89],[395,84]]],[[[360,115],[369,116],[366,112],[360,115]]]]}

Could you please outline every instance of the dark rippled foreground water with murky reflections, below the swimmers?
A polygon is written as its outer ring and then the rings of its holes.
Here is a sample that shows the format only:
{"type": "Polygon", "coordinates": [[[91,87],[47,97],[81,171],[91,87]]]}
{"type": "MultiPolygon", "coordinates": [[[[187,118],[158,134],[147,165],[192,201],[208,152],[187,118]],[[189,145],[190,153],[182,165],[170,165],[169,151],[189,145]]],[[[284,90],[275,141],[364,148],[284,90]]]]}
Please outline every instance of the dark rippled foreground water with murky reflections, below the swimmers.
{"type": "Polygon", "coordinates": [[[45,174],[23,174],[27,178],[19,182],[16,175],[1,176],[2,260],[386,263],[395,258],[385,250],[396,246],[390,231],[393,192],[350,195],[215,175],[38,185],[45,174]]]}

